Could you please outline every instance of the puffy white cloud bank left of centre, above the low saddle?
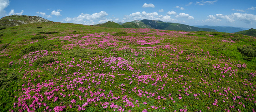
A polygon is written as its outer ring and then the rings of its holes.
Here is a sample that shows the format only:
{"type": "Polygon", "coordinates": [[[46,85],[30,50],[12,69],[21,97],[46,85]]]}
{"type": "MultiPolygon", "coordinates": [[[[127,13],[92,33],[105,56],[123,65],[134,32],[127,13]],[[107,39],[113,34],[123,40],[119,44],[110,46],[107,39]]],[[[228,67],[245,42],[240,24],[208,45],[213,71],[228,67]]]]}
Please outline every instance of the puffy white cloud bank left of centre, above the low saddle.
{"type": "Polygon", "coordinates": [[[112,20],[112,19],[105,19],[105,17],[107,15],[108,15],[108,13],[106,13],[105,11],[101,11],[99,13],[94,13],[92,15],[82,13],[79,16],[74,17],[74,18],[67,17],[67,18],[63,19],[61,22],[71,22],[71,23],[92,25],[92,24],[97,24],[97,23],[105,23],[105,22],[112,20]]]}

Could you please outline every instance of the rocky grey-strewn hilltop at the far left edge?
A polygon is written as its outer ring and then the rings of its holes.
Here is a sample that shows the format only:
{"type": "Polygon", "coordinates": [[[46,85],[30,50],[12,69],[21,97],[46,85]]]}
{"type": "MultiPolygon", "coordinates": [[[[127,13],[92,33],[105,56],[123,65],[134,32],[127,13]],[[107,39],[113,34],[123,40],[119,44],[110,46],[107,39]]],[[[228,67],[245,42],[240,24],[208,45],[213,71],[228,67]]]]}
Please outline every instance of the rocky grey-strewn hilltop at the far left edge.
{"type": "Polygon", "coordinates": [[[19,26],[21,24],[41,23],[41,22],[49,22],[49,20],[43,19],[38,16],[10,15],[0,19],[0,27],[8,28],[8,27],[19,26]]]}

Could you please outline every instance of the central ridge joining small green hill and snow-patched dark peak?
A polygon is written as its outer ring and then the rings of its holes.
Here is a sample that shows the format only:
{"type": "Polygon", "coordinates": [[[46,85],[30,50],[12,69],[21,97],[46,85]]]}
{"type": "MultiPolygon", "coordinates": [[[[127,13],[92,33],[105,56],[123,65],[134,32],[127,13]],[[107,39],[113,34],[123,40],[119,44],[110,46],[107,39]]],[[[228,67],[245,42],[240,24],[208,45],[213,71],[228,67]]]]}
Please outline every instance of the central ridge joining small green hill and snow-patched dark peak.
{"type": "Polygon", "coordinates": [[[189,26],[180,23],[166,23],[163,21],[156,20],[134,20],[132,22],[127,23],[114,23],[107,22],[102,24],[96,24],[95,26],[102,27],[111,27],[111,28],[154,28],[154,29],[163,29],[163,30],[183,30],[183,31],[209,31],[209,32],[217,32],[215,29],[211,28],[198,28],[194,26],[189,26]]]}

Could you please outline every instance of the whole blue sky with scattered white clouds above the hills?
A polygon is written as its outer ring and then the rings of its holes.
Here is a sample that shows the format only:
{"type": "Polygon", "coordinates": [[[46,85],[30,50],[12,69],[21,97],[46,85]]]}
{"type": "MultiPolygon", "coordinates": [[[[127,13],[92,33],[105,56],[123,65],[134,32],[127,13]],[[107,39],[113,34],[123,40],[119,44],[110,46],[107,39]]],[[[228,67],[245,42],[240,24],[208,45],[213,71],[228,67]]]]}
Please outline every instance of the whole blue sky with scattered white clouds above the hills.
{"type": "Polygon", "coordinates": [[[0,0],[0,18],[13,14],[85,25],[152,19],[256,28],[256,0],[0,0]]]}

